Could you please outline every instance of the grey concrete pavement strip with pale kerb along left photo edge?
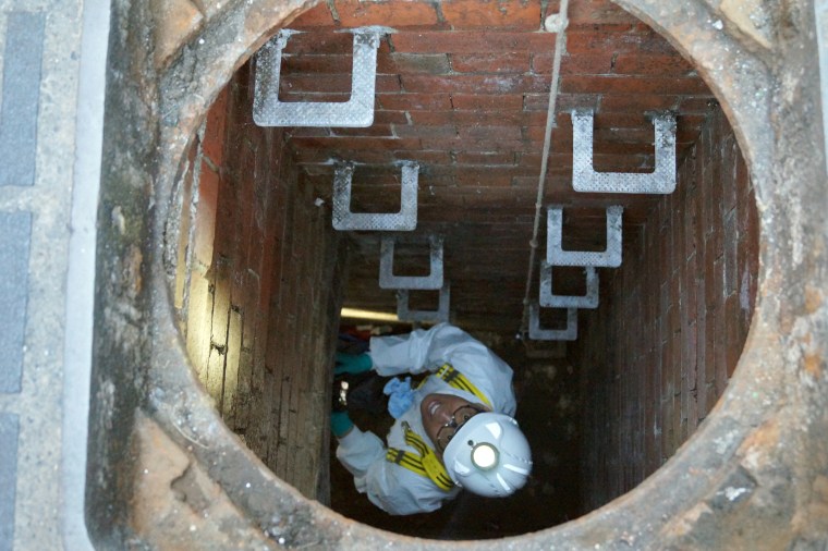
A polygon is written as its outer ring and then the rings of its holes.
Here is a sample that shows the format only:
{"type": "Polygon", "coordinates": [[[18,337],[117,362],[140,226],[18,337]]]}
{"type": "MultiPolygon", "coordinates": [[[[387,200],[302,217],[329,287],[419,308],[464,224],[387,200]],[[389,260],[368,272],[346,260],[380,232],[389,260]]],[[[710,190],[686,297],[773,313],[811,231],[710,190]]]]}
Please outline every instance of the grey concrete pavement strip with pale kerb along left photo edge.
{"type": "Polygon", "coordinates": [[[109,5],[0,0],[0,550],[83,525],[109,5]]]}

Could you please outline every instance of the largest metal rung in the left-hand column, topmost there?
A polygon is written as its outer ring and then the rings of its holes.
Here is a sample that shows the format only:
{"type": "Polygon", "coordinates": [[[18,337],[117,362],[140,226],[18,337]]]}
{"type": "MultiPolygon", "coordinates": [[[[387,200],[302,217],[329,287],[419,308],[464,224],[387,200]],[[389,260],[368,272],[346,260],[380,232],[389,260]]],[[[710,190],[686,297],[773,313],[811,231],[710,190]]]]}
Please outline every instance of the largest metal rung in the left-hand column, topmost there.
{"type": "Polygon", "coordinates": [[[256,84],[253,120],[259,126],[365,127],[374,123],[374,89],[377,76],[379,38],[387,30],[363,27],[354,34],[351,99],[348,101],[279,101],[282,50],[291,35],[284,28],[256,52],[256,84]]]}

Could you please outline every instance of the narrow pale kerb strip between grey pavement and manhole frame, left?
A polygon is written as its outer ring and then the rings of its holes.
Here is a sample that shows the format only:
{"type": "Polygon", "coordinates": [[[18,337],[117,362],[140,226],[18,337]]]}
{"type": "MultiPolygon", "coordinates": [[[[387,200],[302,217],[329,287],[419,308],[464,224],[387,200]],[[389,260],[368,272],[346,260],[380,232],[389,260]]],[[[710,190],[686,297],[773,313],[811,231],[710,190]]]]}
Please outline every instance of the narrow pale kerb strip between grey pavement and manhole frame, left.
{"type": "Polygon", "coordinates": [[[93,549],[84,521],[86,442],[89,421],[96,219],[100,189],[104,95],[109,2],[86,0],[78,78],[75,170],[66,270],[66,327],[63,364],[62,515],[65,549],[93,549]]]}

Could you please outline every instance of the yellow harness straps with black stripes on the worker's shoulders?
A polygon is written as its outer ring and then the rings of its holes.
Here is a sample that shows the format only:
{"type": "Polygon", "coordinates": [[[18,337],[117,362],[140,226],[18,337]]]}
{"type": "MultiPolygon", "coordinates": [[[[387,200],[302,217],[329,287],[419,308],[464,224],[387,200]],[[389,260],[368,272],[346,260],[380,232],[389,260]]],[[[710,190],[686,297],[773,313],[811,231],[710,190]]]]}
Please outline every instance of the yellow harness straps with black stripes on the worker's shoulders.
{"type": "MultiPolygon", "coordinates": [[[[477,387],[466,379],[463,374],[454,369],[451,364],[443,364],[435,375],[446,381],[451,388],[471,392],[484,404],[491,407],[489,400],[477,389],[477,387]]],[[[425,384],[427,379],[428,378],[423,379],[419,387],[425,384]]],[[[411,429],[407,423],[403,421],[402,427],[405,433],[405,443],[417,450],[419,454],[389,448],[388,452],[386,452],[386,460],[395,463],[401,467],[407,468],[417,475],[429,478],[443,491],[451,490],[454,487],[454,482],[451,480],[451,477],[449,477],[446,467],[437,457],[434,450],[425,442],[425,440],[423,440],[423,437],[411,429]]]]}

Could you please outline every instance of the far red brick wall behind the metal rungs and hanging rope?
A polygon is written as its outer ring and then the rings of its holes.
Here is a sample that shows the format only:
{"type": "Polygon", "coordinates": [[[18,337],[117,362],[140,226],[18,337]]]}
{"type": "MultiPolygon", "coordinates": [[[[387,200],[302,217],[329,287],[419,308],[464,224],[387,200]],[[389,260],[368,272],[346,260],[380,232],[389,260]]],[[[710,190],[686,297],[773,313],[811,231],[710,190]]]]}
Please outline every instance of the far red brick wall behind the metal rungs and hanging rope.
{"type": "MultiPolygon", "coordinates": [[[[386,25],[380,40],[374,124],[367,128],[288,128],[303,182],[329,198],[332,160],[357,163],[358,211],[399,209],[397,161],[419,163],[417,230],[446,237],[456,323],[504,336],[523,321],[523,299],[537,200],[556,35],[543,32],[559,2],[541,0],[331,0],[287,24],[280,74],[284,100],[345,100],[351,89],[352,37],[346,28],[386,25]]],[[[624,206],[628,223],[646,218],[654,199],[572,189],[572,108],[596,110],[597,170],[646,172],[655,156],[647,113],[677,115],[677,155],[698,136],[713,93],[663,37],[610,0],[569,4],[557,127],[544,205],[624,206]],[[612,201],[612,203],[609,203],[612,201]]],[[[573,217],[572,235],[602,234],[599,217],[573,217]]],[[[395,295],[377,290],[374,235],[352,261],[349,299],[392,311],[395,295]]],[[[573,242],[572,246],[577,246],[573,242]]],[[[569,280],[565,273],[557,281],[569,280]]],[[[525,329],[525,328],[524,328],[525,329]]]]}

